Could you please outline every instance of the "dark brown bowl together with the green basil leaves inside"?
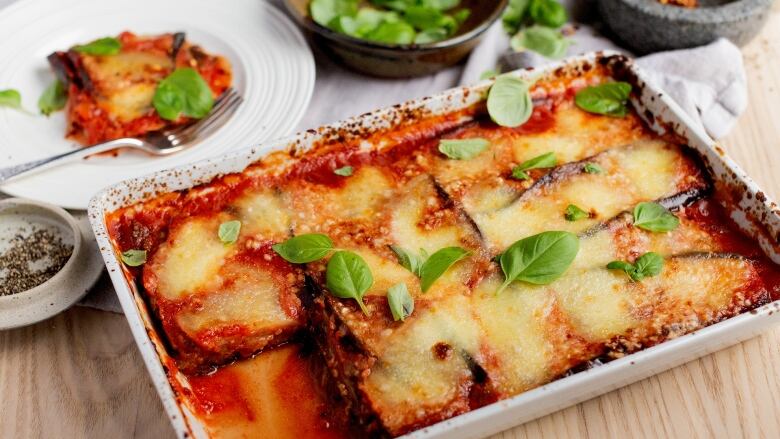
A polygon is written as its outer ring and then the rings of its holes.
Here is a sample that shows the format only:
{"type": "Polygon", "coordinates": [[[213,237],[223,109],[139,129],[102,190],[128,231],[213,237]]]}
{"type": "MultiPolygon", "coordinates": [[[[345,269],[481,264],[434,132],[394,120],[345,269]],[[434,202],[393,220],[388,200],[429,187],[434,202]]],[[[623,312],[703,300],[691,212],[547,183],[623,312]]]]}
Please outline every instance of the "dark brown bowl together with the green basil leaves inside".
{"type": "Polygon", "coordinates": [[[508,0],[285,0],[339,64],[385,78],[449,67],[471,52],[508,0]]]}

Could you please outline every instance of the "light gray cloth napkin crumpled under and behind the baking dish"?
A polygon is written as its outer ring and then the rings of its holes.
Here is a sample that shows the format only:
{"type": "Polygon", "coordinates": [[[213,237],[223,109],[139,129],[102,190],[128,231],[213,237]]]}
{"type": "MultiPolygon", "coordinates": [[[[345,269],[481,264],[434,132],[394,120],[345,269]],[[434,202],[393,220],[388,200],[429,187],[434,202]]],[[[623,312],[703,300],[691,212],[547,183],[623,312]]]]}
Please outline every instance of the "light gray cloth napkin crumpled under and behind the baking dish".
{"type": "MultiPolygon", "coordinates": [[[[271,0],[278,3],[277,0],[271,0]]],[[[0,5],[4,3],[0,0],[0,5]]],[[[599,32],[588,2],[564,2],[578,23],[568,55],[612,49],[630,55],[599,32]],[[583,4],[585,6],[583,6],[583,4]],[[577,10],[580,8],[580,11],[577,10]]],[[[350,72],[317,52],[317,82],[306,116],[298,130],[332,123],[376,108],[431,95],[459,84],[471,84],[488,69],[503,71],[539,66],[549,60],[533,53],[512,54],[509,37],[500,21],[488,30],[483,42],[464,65],[435,75],[410,80],[369,78],[350,72]]],[[[672,96],[713,138],[725,136],[747,107],[747,84],[742,54],[727,40],[708,46],[657,53],[637,59],[656,85],[672,96]]],[[[107,275],[103,275],[80,303],[122,312],[107,275]]]]}

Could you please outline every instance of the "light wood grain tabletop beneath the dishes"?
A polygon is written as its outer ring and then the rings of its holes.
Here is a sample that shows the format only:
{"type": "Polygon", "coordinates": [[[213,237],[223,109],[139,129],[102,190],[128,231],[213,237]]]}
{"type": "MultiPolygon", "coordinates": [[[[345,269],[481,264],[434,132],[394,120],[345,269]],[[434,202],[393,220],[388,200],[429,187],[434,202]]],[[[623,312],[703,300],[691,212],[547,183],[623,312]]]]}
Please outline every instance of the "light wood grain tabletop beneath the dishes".
{"type": "MultiPolygon", "coordinates": [[[[750,106],[722,142],[780,196],[780,2],[744,49],[750,106]]],[[[0,438],[173,431],[123,316],[71,309],[0,333],[0,438]]],[[[780,329],[496,438],[780,438],[780,329]]]]}

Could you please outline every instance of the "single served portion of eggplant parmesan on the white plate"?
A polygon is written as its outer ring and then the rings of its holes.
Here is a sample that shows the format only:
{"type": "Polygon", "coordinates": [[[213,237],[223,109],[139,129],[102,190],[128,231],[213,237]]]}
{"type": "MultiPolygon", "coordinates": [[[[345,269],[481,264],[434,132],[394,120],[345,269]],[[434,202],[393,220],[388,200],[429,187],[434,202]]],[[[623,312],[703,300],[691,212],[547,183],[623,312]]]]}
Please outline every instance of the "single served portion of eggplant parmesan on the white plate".
{"type": "Polygon", "coordinates": [[[228,61],[191,44],[184,33],[139,36],[123,32],[109,39],[118,50],[91,52],[75,46],[48,57],[67,90],[66,137],[83,145],[188,123],[183,116],[166,120],[152,105],[158,84],[177,68],[197,71],[214,96],[230,87],[228,61]]]}

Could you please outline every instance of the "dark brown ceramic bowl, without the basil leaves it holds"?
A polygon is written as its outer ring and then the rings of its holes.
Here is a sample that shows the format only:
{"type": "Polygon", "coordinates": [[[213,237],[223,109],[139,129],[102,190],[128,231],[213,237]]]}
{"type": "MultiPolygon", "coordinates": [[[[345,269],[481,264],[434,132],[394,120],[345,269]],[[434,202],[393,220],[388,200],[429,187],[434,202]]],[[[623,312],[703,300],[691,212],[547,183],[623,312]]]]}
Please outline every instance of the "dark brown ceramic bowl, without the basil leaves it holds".
{"type": "Polygon", "coordinates": [[[501,17],[507,2],[464,0],[461,5],[471,9],[471,16],[455,36],[431,44],[403,46],[361,40],[320,26],[309,17],[309,0],[284,0],[284,5],[337,62],[372,76],[409,78],[437,72],[463,59],[501,17]]]}

